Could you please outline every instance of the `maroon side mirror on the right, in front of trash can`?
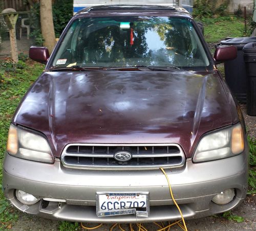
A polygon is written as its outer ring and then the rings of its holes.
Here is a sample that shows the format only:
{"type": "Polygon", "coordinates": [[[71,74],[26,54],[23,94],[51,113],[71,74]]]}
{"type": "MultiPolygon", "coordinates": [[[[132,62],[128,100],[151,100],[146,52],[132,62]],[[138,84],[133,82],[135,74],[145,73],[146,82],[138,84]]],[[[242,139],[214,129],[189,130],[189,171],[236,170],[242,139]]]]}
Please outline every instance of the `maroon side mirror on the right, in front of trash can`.
{"type": "Polygon", "coordinates": [[[237,58],[238,50],[233,45],[224,45],[217,47],[214,54],[216,62],[225,62],[237,58]]]}

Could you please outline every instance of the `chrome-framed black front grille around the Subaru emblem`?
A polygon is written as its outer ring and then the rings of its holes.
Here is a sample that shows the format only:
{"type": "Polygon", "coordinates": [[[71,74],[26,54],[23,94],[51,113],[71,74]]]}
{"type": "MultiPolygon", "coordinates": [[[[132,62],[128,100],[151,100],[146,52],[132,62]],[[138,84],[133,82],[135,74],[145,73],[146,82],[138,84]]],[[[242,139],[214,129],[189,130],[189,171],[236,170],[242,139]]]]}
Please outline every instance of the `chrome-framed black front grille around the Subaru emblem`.
{"type": "Polygon", "coordinates": [[[185,156],[177,144],[69,144],[61,154],[61,162],[67,168],[139,170],[182,167],[185,156]],[[114,158],[122,151],[131,153],[132,158],[114,158]]]}

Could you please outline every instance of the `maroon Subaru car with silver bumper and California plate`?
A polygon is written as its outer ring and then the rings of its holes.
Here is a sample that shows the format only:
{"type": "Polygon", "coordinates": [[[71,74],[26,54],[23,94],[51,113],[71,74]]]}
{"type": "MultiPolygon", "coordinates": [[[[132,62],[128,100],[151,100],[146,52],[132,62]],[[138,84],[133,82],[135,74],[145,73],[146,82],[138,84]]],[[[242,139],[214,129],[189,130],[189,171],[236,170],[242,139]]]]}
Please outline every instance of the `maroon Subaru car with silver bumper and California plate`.
{"type": "Polygon", "coordinates": [[[194,19],[163,6],[78,12],[19,104],[4,193],[17,209],[82,222],[152,222],[222,213],[246,196],[241,109],[194,19]],[[161,168],[161,169],[160,169],[161,168]]]}

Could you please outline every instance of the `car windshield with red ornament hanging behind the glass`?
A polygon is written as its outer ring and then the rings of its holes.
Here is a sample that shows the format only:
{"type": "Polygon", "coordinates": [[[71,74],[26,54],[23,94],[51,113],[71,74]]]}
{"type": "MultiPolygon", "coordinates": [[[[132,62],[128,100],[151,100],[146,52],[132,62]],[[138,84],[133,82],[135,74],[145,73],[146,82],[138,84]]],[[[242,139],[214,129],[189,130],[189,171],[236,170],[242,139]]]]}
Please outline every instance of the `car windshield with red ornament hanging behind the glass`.
{"type": "Polygon", "coordinates": [[[88,17],[73,22],[52,67],[208,66],[190,19],[180,17],[88,17]]]}

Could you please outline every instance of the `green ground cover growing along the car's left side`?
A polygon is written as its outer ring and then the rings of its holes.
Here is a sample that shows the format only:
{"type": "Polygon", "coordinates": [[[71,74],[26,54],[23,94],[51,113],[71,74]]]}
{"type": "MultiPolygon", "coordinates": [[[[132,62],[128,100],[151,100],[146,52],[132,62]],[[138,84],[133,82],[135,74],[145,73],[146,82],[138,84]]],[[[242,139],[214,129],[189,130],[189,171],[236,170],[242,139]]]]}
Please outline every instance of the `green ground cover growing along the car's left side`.
{"type": "MultiPolygon", "coordinates": [[[[16,66],[11,61],[0,63],[0,169],[3,169],[3,159],[7,142],[7,134],[12,115],[30,85],[40,75],[44,66],[41,64],[19,61],[16,66]]],[[[3,173],[0,171],[0,182],[3,173]]],[[[2,185],[0,184],[2,188],[2,185]]],[[[17,220],[14,210],[5,200],[0,190],[0,230],[10,228],[17,220]]]]}

